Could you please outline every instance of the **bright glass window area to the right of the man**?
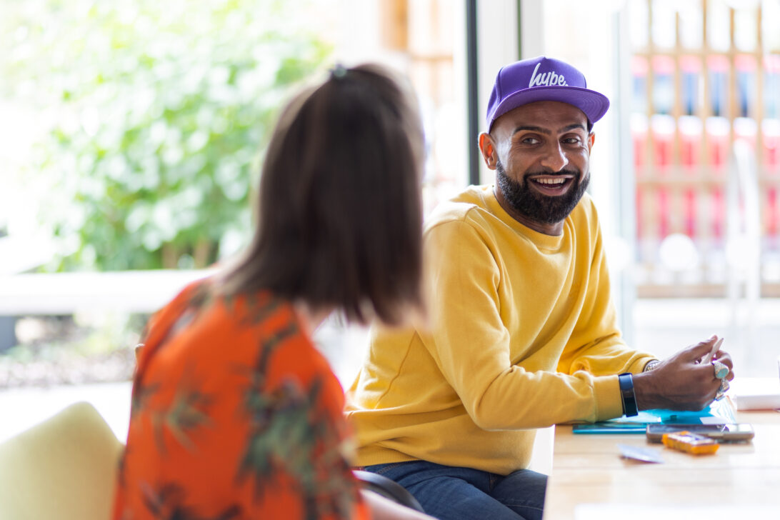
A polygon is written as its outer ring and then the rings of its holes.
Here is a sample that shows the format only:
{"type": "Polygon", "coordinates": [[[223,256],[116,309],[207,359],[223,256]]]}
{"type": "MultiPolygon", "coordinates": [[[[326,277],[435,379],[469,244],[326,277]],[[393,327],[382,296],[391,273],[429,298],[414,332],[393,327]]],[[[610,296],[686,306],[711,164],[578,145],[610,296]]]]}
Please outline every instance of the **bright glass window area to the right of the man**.
{"type": "Polygon", "coordinates": [[[568,59],[612,100],[590,191],[629,342],[717,333],[740,374],[776,377],[780,3],[521,3],[523,57],[568,59]]]}

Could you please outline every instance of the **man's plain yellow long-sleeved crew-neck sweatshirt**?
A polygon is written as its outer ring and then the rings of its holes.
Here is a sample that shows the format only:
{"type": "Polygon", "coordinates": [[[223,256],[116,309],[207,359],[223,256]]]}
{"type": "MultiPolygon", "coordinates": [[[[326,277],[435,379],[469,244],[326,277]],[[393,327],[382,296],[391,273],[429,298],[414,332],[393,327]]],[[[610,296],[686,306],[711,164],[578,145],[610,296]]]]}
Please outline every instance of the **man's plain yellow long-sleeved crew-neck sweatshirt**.
{"type": "Polygon", "coordinates": [[[622,415],[618,373],[654,359],[622,341],[593,201],[558,236],[472,186],[424,231],[429,323],[371,331],[347,392],[358,464],[426,460],[506,475],[534,429],[622,415]]]}

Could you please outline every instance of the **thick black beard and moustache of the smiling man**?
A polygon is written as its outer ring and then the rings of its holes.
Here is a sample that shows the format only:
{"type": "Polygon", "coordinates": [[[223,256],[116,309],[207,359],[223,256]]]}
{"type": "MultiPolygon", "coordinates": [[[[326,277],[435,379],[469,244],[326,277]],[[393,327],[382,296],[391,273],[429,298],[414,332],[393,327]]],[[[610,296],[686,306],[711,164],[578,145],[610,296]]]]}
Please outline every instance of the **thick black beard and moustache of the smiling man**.
{"type": "MultiPolygon", "coordinates": [[[[506,170],[501,161],[496,164],[496,179],[498,189],[509,206],[517,213],[541,224],[557,224],[563,221],[572,212],[574,207],[580,202],[590,183],[590,175],[582,178],[580,172],[574,170],[561,170],[562,175],[573,175],[573,182],[576,182],[573,189],[561,196],[547,196],[530,189],[526,180],[526,175],[520,181],[511,179],[506,175],[506,170]]],[[[545,172],[530,175],[544,175],[545,172]]]]}

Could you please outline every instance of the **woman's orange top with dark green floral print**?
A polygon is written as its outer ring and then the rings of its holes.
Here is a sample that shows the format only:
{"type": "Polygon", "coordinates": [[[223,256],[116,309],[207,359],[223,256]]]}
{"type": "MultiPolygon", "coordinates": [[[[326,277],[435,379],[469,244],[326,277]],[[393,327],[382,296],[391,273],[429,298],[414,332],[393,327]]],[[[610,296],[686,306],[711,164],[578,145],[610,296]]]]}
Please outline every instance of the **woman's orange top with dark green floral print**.
{"type": "Polygon", "coordinates": [[[288,302],[198,281],[144,344],[115,520],[367,518],[342,387],[288,302]]]}

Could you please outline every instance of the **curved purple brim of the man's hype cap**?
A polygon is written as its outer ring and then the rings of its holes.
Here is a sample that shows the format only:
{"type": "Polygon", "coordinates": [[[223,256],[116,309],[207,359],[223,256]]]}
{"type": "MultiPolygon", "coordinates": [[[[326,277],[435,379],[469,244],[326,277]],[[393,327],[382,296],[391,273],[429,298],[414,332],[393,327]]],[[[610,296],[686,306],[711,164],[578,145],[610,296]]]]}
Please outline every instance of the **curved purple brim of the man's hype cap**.
{"type": "Polygon", "coordinates": [[[496,119],[510,110],[534,101],[561,101],[572,104],[583,111],[591,123],[601,119],[609,108],[607,97],[595,90],[581,87],[533,87],[520,90],[502,101],[488,116],[488,132],[496,119]]]}

